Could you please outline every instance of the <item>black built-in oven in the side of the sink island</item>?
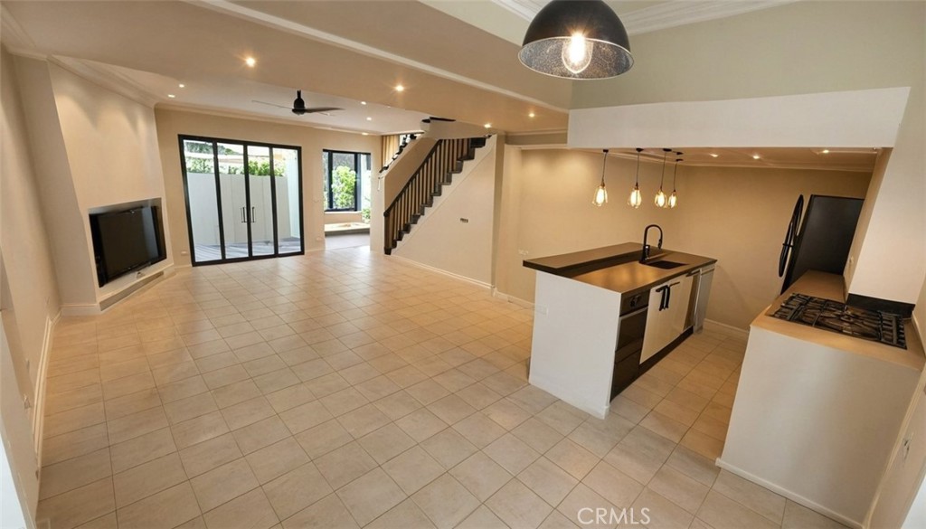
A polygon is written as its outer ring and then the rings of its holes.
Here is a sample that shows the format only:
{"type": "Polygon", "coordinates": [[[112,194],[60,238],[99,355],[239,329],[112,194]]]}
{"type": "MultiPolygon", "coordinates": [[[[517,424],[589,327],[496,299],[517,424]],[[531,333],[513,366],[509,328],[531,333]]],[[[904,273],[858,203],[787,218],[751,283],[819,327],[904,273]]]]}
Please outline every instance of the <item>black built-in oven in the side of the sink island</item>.
{"type": "Polygon", "coordinates": [[[614,350],[614,374],[611,377],[611,398],[636,380],[640,372],[640,353],[646,330],[649,291],[622,296],[618,340],[614,350]]]}

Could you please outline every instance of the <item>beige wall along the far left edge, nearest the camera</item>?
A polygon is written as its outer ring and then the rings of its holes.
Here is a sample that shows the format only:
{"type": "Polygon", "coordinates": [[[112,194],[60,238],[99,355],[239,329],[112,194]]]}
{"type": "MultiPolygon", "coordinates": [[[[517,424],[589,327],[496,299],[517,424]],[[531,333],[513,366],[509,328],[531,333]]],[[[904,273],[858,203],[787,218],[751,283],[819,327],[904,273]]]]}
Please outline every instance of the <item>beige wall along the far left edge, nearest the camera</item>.
{"type": "Polygon", "coordinates": [[[39,372],[47,351],[45,329],[56,318],[57,293],[52,249],[41,211],[37,170],[31,159],[26,119],[14,59],[0,50],[0,433],[22,505],[34,519],[38,504],[37,457],[33,424],[37,408],[24,409],[22,397],[41,400],[39,372]],[[8,339],[7,339],[8,338],[8,339]]]}

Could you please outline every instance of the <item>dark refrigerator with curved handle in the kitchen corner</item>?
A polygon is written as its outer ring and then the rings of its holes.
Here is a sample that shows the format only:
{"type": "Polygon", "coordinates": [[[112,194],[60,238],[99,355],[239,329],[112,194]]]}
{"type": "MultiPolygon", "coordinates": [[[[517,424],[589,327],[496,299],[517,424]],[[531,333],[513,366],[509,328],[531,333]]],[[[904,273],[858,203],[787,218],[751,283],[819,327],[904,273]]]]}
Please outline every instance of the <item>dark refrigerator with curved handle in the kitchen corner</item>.
{"type": "Polygon", "coordinates": [[[861,198],[810,195],[801,222],[804,195],[797,198],[778,263],[778,275],[784,276],[782,292],[808,270],[843,273],[863,202],[861,198]]]}

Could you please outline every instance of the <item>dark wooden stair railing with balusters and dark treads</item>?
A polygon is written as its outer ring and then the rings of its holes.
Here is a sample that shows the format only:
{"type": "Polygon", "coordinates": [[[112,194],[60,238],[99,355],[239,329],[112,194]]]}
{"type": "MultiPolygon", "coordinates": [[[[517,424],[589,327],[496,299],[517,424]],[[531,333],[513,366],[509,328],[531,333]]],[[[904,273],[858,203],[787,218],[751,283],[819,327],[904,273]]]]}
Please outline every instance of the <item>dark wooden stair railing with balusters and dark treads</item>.
{"type": "Polygon", "coordinates": [[[475,157],[476,149],[485,146],[485,138],[439,140],[421,162],[418,170],[395,195],[392,204],[382,213],[386,255],[393,252],[399,241],[411,232],[412,226],[434,204],[434,197],[444,193],[444,185],[453,182],[462,172],[463,163],[475,157]]]}

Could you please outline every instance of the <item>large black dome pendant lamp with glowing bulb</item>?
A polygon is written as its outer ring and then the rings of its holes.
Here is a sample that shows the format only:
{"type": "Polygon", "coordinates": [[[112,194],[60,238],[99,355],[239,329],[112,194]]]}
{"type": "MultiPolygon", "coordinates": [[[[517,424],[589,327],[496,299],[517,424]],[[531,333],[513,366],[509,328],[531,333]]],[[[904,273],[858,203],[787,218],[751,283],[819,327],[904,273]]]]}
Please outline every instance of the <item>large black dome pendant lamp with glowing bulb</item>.
{"type": "Polygon", "coordinates": [[[537,13],[518,58],[566,79],[607,79],[633,66],[627,31],[603,0],[553,0],[537,13]]]}

